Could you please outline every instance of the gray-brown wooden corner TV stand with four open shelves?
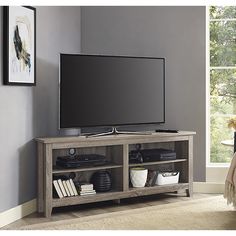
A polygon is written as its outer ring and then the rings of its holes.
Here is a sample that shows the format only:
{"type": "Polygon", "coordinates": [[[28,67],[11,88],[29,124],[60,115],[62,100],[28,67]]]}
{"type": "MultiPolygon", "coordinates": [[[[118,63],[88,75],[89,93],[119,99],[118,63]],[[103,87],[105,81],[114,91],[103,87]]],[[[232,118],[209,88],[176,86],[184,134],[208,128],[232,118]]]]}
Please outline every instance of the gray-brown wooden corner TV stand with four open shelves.
{"type": "Polygon", "coordinates": [[[38,212],[50,217],[54,207],[77,205],[106,200],[142,195],[176,192],[186,190],[192,196],[193,184],[193,135],[195,132],[179,131],[178,133],[150,133],[146,135],[110,135],[103,137],[48,137],[37,138],[38,149],[38,212]],[[135,144],[142,148],[168,148],[176,152],[176,160],[155,161],[129,164],[129,151],[135,144]],[[58,156],[68,155],[68,150],[75,148],[77,154],[102,154],[110,161],[102,166],[63,169],[55,166],[58,156]],[[178,184],[133,188],[129,181],[129,168],[145,166],[151,170],[172,168],[180,172],[178,184]],[[77,174],[90,175],[97,170],[109,170],[112,176],[112,190],[90,196],[53,198],[53,175],[77,174]]]}

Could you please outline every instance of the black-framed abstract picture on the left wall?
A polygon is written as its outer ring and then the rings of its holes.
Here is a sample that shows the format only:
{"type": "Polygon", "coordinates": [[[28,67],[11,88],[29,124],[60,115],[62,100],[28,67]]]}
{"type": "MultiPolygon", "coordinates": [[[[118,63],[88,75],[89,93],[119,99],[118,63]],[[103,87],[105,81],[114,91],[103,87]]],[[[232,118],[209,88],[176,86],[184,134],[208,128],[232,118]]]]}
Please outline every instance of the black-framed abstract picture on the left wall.
{"type": "Polygon", "coordinates": [[[36,9],[3,8],[3,82],[36,85],[36,9]]]}

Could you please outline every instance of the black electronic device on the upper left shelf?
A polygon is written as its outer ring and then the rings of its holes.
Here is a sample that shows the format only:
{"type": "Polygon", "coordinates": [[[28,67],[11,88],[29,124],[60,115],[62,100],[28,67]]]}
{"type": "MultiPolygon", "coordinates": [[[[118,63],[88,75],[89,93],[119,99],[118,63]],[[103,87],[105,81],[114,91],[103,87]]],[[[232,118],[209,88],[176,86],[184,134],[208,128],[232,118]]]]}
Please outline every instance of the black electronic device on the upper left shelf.
{"type": "Polygon", "coordinates": [[[99,154],[80,154],[71,156],[57,157],[56,165],[64,168],[76,168],[83,166],[96,166],[106,164],[104,155],[99,154]]]}

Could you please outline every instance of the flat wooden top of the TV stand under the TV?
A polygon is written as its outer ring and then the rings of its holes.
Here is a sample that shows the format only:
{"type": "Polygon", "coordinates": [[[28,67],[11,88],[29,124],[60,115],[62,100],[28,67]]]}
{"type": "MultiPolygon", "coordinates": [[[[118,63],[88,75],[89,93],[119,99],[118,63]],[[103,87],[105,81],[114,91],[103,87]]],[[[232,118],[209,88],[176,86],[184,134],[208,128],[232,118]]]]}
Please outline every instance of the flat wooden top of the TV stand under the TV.
{"type": "Polygon", "coordinates": [[[192,136],[195,135],[196,132],[194,131],[178,131],[178,133],[158,133],[158,132],[151,132],[147,135],[140,135],[140,134],[133,134],[133,135],[126,135],[126,134],[119,134],[119,135],[109,135],[109,136],[101,136],[101,137],[90,137],[87,138],[84,135],[81,136],[66,136],[66,137],[42,137],[42,138],[36,138],[35,140],[40,143],[47,143],[47,144],[55,144],[55,143],[88,143],[88,142],[95,142],[99,143],[99,141],[102,142],[114,142],[114,145],[119,144],[125,144],[125,143],[137,143],[138,141],[143,142],[144,141],[152,141],[152,140],[158,140],[160,141],[165,138],[171,138],[171,137],[179,137],[182,136],[192,136]]]}

